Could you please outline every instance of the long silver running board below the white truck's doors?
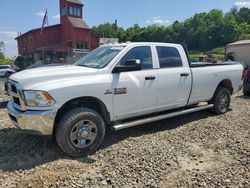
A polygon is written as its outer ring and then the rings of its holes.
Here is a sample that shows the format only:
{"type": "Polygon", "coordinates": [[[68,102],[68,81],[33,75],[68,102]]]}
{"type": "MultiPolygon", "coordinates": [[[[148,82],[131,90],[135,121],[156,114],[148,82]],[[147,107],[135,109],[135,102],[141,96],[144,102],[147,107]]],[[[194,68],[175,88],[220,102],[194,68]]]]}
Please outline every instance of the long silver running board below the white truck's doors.
{"type": "Polygon", "coordinates": [[[194,108],[191,108],[191,109],[184,109],[184,110],[180,110],[180,111],[176,111],[176,112],[172,112],[172,113],[161,114],[161,115],[154,116],[154,117],[149,117],[149,118],[139,119],[139,120],[135,120],[135,121],[125,122],[125,123],[122,123],[122,124],[119,124],[119,125],[114,125],[113,130],[118,131],[118,130],[121,130],[121,129],[126,129],[126,128],[134,127],[134,126],[137,126],[137,125],[142,125],[142,124],[146,124],[146,123],[160,121],[160,120],[164,120],[164,119],[168,119],[168,118],[172,118],[172,117],[176,117],[176,116],[180,116],[180,115],[184,115],[184,114],[189,114],[189,113],[192,113],[192,112],[206,110],[206,109],[213,108],[213,107],[214,107],[213,104],[209,104],[209,105],[205,105],[205,106],[194,107],[194,108]]]}

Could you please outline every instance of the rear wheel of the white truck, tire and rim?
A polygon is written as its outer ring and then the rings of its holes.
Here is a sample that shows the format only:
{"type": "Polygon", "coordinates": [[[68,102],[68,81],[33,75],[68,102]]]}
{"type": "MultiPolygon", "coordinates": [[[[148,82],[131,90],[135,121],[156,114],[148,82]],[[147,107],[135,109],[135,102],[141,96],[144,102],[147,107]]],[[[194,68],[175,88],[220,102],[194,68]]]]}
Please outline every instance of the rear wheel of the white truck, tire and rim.
{"type": "Polygon", "coordinates": [[[231,103],[230,91],[227,88],[218,87],[209,104],[214,107],[210,109],[214,114],[220,115],[228,112],[231,103]]]}

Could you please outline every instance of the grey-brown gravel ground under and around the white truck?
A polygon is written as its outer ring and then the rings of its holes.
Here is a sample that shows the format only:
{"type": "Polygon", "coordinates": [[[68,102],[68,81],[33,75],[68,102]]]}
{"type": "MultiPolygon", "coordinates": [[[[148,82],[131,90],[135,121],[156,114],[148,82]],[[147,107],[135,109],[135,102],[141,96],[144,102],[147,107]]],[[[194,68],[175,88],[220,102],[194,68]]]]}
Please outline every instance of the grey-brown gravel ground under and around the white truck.
{"type": "Polygon", "coordinates": [[[250,98],[232,110],[108,131],[95,154],[65,156],[8,119],[0,94],[0,187],[250,187],[250,98]]]}

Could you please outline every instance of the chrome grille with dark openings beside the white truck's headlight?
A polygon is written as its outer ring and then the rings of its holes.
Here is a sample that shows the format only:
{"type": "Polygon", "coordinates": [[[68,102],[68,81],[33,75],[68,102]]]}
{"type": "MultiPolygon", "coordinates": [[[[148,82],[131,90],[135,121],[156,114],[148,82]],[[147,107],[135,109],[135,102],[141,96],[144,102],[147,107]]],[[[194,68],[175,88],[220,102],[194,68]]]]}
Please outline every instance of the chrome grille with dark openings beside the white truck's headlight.
{"type": "Polygon", "coordinates": [[[25,111],[24,96],[20,85],[15,81],[8,80],[8,91],[14,107],[18,110],[25,111]]]}

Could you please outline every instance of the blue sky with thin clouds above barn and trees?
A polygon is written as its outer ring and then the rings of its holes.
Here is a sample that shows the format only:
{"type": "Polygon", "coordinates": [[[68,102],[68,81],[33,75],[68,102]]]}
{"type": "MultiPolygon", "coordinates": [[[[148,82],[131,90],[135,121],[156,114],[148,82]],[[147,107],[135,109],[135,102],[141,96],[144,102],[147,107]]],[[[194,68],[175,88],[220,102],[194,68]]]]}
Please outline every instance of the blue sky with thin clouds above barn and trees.
{"type": "MultiPolygon", "coordinates": [[[[196,13],[220,9],[228,12],[233,6],[250,8],[250,0],[81,0],[84,20],[90,27],[118,21],[118,26],[128,28],[134,24],[171,25],[184,21],[196,13]]],[[[9,58],[18,55],[15,37],[40,28],[48,10],[49,25],[58,24],[59,0],[3,0],[0,5],[0,41],[5,43],[9,58]]]]}

